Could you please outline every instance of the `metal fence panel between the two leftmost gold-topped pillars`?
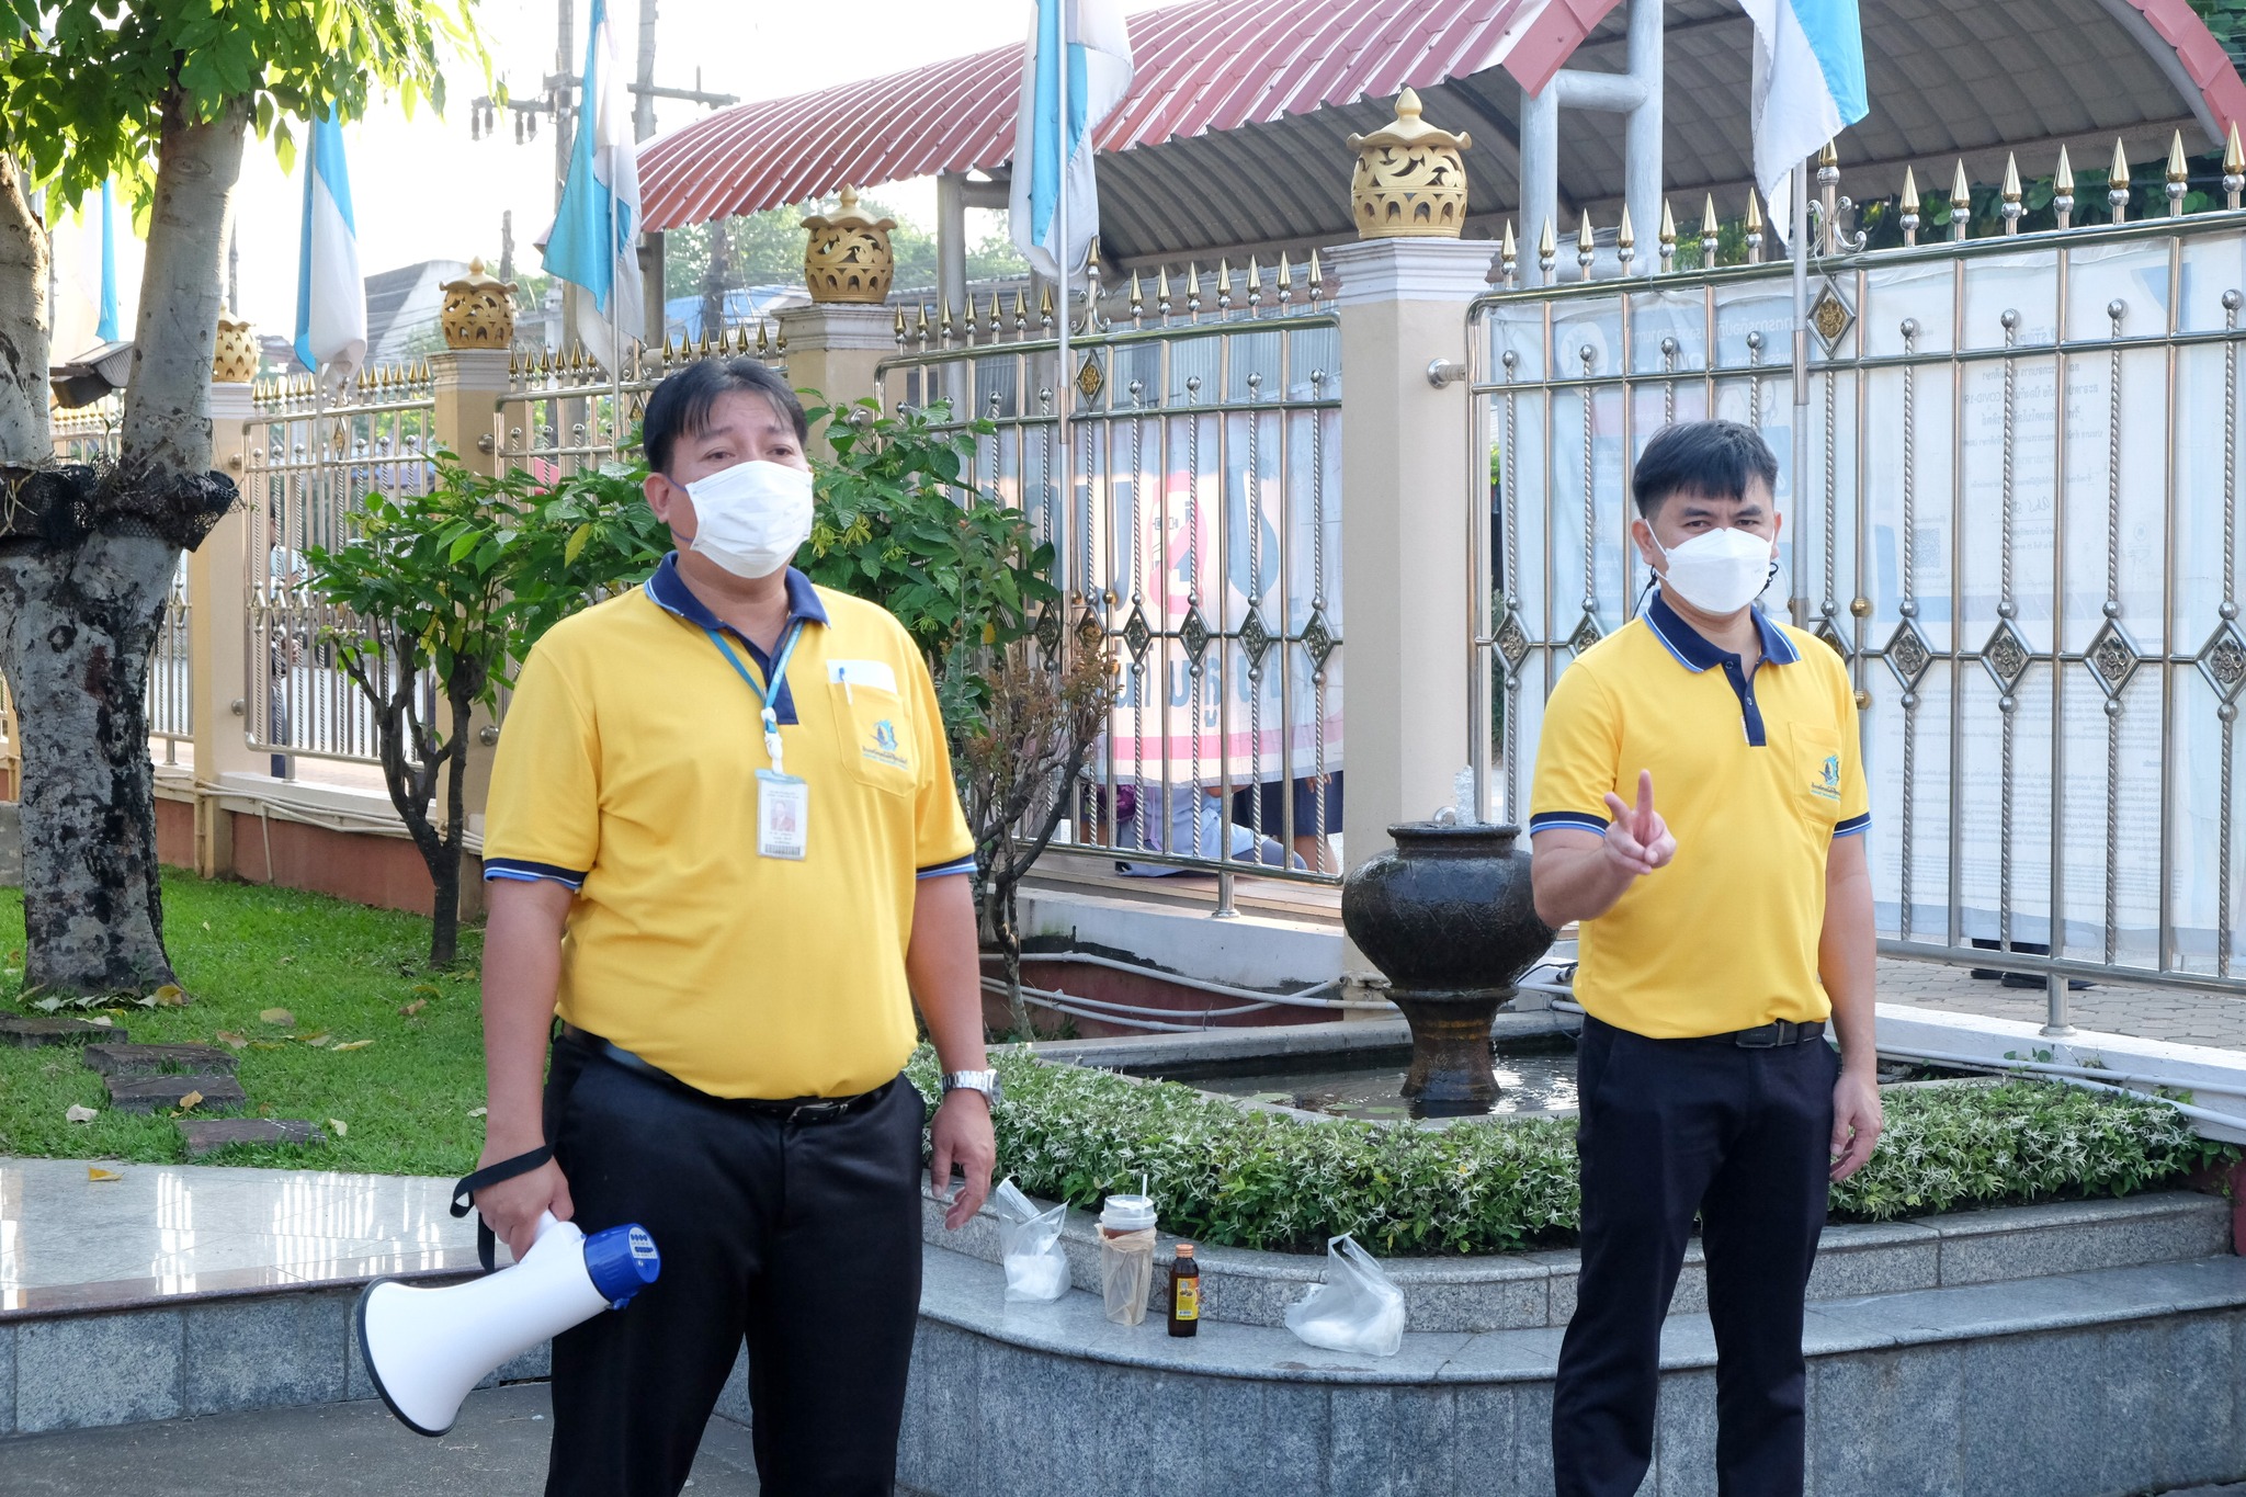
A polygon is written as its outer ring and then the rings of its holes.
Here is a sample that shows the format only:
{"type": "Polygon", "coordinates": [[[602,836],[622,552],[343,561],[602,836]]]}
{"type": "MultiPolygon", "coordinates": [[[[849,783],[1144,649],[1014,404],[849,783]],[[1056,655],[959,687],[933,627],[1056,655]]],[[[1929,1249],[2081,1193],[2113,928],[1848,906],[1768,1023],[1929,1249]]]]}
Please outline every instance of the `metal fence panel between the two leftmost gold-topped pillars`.
{"type": "Polygon", "coordinates": [[[303,550],[341,545],[368,494],[427,494],[436,483],[429,368],[368,370],[337,402],[303,377],[267,382],[254,408],[243,471],[249,747],[380,763],[373,709],[328,642],[359,622],[312,593],[303,550]]]}

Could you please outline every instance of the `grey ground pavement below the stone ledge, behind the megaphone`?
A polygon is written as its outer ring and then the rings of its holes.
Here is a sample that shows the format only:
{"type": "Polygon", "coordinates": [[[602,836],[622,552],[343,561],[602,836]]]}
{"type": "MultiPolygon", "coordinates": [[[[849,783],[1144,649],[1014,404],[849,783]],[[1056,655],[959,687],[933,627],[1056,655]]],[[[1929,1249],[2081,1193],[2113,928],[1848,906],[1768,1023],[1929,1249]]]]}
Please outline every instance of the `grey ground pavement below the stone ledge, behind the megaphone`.
{"type": "MultiPolygon", "coordinates": [[[[380,1403],[168,1418],[0,1441],[9,1497],[532,1497],[546,1488],[546,1385],[469,1394],[424,1439],[380,1403]]],[[[692,1497],[755,1497],[748,1430],[710,1421],[692,1497]]]]}

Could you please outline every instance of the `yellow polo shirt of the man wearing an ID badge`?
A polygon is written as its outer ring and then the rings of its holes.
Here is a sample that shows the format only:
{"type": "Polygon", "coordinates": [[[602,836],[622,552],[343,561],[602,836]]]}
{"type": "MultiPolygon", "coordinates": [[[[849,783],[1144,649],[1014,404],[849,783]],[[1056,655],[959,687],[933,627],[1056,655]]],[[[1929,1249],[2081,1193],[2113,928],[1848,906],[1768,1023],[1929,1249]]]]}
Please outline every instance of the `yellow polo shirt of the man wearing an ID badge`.
{"type": "MultiPolygon", "coordinates": [[[[975,844],[921,651],[883,608],[788,570],[802,637],[777,698],[809,786],[802,862],[757,855],[759,700],[676,557],[557,624],[508,705],[485,878],[575,889],[559,1010],[721,1098],[842,1098],[914,1046],[923,878],[975,844]]],[[[730,640],[757,680],[770,662],[730,640]]]]}

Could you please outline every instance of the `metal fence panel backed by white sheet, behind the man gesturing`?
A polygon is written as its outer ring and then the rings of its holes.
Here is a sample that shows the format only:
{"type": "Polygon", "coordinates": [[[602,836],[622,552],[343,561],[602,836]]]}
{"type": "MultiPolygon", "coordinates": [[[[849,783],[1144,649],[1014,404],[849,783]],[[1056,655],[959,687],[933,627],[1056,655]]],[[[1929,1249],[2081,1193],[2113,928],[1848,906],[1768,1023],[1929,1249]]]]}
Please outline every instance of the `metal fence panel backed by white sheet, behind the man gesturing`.
{"type": "Polygon", "coordinates": [[[1882,949],[2039,972],[2055,1021],[2064,974],[2246,992],[2246,213],[1837,254],[1813,299],[1801,406],[1783,265],[1476,303],[1491,808],[1527,815],[1552,682],[1644,601],[1635,456],[1725,415],[1781,460],[1765,606],[1790,579],[1857,685],[1882,949]]]}

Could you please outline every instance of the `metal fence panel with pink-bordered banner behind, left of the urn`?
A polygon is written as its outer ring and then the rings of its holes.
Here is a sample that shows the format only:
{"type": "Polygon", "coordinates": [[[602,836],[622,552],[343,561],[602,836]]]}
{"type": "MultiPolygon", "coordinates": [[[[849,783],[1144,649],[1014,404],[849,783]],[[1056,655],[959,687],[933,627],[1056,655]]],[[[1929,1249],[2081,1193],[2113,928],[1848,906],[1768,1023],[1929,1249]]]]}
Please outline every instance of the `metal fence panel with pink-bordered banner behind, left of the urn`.
{"type": "Polygon", "coordinates": [[[1231,848],[1258,873],[1341,873],[1318,835],[1343,770],[1341,337],[1316,260],[1296,274],[1220,267],[1213,296],[1163,274],[1152,305],[1134,276],[1067,370],[1049,307],[923,312],[880,368],[892,408],[990,424],[973,485],[1056,550],[1047,658],[1116,658],[1096,786],[1058,842],[1132,871],[1229,873],[1231,848]]]}

